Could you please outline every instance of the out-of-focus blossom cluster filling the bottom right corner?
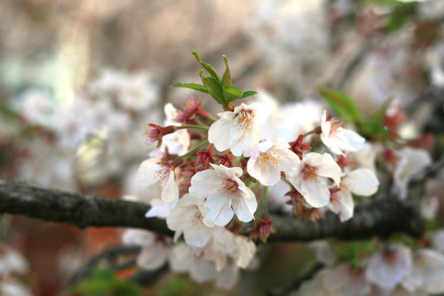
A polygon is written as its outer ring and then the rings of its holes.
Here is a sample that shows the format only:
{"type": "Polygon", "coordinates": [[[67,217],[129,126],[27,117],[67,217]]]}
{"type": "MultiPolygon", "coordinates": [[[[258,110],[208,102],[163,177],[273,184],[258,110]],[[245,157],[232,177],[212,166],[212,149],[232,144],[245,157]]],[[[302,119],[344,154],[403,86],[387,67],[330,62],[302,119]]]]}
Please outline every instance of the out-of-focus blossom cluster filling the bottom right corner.
{"type": "MultiPolygon", "coordinates": [[[[316,243],[318,260],[327,265],[302,285],[298,295],[430,295],[444,292],[443,230],[420,241],[351,243],[348,258],[316,243]]],[[[334,243],[332,242],[332,245],[334,243]]],[[[336,246],[338,247],[338,246],[336,246]]],[[[344,246],[342,246],[344,247],[344,246]]],[[[336,249],[338,250],[338,249],[336,249]]]]}

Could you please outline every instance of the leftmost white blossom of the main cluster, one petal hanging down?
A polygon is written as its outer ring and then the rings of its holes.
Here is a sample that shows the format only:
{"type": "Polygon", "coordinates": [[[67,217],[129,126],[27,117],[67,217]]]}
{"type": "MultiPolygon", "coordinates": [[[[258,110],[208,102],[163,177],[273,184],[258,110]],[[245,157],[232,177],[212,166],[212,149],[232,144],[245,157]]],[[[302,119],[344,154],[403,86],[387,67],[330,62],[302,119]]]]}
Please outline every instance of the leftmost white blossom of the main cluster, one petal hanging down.
{"type": "Polygon", "coordinates": [[[139,167],[139,184],[142,187],[159,182],[162,186],[160,198],[167,209],[173,209],[179,199],[179,187],[175,181],[174,168],[168,162],[161,162],[160,157],[146,159],[139,167]]]}

